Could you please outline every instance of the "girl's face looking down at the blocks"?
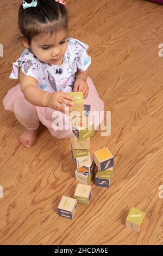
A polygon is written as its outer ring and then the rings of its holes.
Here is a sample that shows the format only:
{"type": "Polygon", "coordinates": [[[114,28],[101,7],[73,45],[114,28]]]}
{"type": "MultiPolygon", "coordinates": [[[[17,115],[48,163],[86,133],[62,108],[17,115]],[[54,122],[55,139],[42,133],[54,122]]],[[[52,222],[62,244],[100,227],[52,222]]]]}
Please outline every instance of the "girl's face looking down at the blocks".
{"type": "Polygon", "coordinates": [[[60,31],[57,35],[41,38],[36,36],[32,39],[30,50],[41,62],[61,65],[67,50],[67,32],[60,31]]]}

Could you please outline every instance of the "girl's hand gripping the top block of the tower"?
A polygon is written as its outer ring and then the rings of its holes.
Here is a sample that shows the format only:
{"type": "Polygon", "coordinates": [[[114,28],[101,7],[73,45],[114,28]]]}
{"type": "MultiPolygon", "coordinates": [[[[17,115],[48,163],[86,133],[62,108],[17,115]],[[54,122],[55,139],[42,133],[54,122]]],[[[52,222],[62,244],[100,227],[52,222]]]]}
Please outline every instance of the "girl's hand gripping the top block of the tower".
{"type": "Polygon", "coordinates": [[[74,105],[72,102],[73,100],[73,97],[63,92],[49,93],[46,98],[48,107],[57,111],[61,111],[64,114],[67,112],[66,107],[69,107],[69,112],[72,111],[72,106],[74,105]],[[62,104],[66,105],[66,107],[62,104]]]}

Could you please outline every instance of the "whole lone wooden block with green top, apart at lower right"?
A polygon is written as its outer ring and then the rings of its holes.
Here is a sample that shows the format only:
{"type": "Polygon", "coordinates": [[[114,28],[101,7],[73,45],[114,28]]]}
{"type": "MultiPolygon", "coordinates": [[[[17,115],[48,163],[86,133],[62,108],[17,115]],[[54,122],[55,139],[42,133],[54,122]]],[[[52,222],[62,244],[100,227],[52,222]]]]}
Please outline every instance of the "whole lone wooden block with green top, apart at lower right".
{"type": "Polygon", "coordinates": [[[145,221],[146,212],[131,208],[126,218],[126,228],[140,232],[142,224],[145,221]]]}

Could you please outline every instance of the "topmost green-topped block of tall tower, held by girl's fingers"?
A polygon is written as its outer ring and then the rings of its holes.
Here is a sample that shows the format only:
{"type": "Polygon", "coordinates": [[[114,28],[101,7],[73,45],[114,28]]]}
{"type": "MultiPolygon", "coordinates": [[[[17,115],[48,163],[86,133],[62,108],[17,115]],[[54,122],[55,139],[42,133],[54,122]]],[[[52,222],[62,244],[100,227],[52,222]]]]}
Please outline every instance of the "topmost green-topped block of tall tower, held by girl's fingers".
{"type": "Polygon", "coordinates": [[[77,111],[82,114],[84,111],[84,99],[83,99],[83,92],[76,92],[76,93],[67,93],[68,95],[74,98],[74,106],[72,107],[72,111],[77,111]]]}

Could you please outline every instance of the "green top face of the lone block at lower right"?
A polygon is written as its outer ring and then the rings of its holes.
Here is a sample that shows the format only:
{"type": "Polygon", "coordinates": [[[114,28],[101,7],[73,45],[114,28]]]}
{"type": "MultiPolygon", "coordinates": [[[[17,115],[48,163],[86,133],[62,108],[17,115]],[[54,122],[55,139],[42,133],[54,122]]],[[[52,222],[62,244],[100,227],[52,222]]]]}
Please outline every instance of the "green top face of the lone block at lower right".
{"type": "Polygon", "coordinates": [[[141,225],[145,216],[146,216],[146,212],[140,211],[135,208],[131,208],[126,220],[136,225],[141,225]]]}

